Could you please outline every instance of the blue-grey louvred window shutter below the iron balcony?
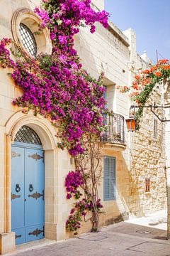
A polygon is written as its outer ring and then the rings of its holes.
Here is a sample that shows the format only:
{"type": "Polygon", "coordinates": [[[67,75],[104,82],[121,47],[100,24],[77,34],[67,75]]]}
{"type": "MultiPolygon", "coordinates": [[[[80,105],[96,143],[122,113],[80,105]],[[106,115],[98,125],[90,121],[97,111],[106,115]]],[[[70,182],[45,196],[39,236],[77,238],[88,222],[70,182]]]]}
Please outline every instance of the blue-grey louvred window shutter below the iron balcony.
{"type": "Polygon", "coordinates": [[[115,200],[116,178],[115,178],[115,157],[105,156],[104,158],[104,201],[115,200]]]}

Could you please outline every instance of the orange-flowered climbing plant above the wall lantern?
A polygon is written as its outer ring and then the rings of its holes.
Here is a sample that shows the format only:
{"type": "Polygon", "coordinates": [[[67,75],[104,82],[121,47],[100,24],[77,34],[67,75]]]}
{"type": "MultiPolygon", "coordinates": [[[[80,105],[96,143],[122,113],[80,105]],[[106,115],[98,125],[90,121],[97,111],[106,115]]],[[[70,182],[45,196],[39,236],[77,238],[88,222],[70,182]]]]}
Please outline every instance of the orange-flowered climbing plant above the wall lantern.
{"type": "Polygon", "coordinates": [[[156,65],[152,65],[147,70],[142,70],[138,75],[135,75],[134,81],[130,87],[118,86],[120,92],[129,92],[129,97],[132,102],[139,106],[139,110],[135,114],[137,123],[139,124],[142,117],[143,108],[140,105],[145,105],[155,85],[161,85],[170,78],[170,63],[169,60],[159,60],[156,65]]]}

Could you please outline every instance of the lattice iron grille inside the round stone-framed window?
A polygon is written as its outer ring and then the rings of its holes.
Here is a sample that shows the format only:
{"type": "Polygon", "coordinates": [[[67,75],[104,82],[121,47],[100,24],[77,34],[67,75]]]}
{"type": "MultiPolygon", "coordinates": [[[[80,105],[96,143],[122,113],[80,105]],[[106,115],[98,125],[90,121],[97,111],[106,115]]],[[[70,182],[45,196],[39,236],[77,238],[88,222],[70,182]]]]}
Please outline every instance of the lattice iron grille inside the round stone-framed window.
{"type": "Polygon", "coordinates": [[[35,58],[37,55],[37,43],[33,33],[30,31],[30,28],[23,23],[20,23],[19,31],[24,48],[26,48],[26,51],[35,58]]]}

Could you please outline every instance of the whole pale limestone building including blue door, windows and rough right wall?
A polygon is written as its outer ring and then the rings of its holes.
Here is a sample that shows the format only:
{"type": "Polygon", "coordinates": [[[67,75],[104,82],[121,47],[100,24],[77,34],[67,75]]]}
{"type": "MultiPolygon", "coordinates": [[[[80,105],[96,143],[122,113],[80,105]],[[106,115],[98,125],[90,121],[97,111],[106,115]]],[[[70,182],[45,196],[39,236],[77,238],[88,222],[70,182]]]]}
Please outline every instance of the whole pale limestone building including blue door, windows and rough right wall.
{"type": "MultiPolygon", "coordinates": [[[[0,2],[1,38],[13,38],[24,50],[29,50],[23,40],[29,35],[37,45],[30,52],[32,55],[50,53],[52,49],[47,30],[41,35],[33,34],[40,23],[33,12],[38,4],[39,0],[0,2]]],[[[103,9],[104,1],[94,0],[93,6],[103,9]]],[[[100,24],[96,27],[93,35],[89,28],[82,28],[75,37],[75,47],[91,75],[98,78],[101,70],[104,71],[108,109],[114,112],[112,129],[101,139],[103,166],[109,164],[113,168],[113,187],[105,183],[103,167],[99,188],[106,211],[101,215],[102,226],[164,208],[166,176],[164,127],[159,122],[156,125],[154,116],[146,110],[141,129],[135,134],[128,133],[124,118],[128,117],[130,101],[116,90],[116,85],[130,85],[135,72],[148,66],[146,59],[136,52],[135,32],[132,29],[122,32],[111,22],[108,29],[100,24]]],[[[16,243],[44,236],[52,240],[69,238],[71,234],[67,233],[65,222],[73,203],[66,199],[64,188],[64,178],[74,169],[68,152],[57,149],[56,131],[47,119],[35,117],[31,111],[24,114],[12,105],[22,91],[7,73],[10,70],[1,69],[1,254],[14,250],[16,243]],[[39,170],[37,176],[35,169],[39,170]],[[41,203],[32,205],[30,200],[41,203]]],[[[159,92],[156,97],[160,100],[159,92]]],[[[86,230],[90,230],[90,223],[84,223],[80,232],[86,230]]]]}

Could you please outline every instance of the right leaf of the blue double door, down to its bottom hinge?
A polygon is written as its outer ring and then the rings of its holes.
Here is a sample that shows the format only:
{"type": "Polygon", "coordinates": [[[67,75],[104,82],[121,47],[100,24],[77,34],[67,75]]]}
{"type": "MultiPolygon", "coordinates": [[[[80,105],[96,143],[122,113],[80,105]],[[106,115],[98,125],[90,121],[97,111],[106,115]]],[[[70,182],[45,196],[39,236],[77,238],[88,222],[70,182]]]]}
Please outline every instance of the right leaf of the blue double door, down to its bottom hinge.
{"type": "Polygon", "coordinates": [[[25,149],[25,225],[44,223],[43,151],[25,149]]]}

